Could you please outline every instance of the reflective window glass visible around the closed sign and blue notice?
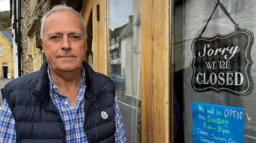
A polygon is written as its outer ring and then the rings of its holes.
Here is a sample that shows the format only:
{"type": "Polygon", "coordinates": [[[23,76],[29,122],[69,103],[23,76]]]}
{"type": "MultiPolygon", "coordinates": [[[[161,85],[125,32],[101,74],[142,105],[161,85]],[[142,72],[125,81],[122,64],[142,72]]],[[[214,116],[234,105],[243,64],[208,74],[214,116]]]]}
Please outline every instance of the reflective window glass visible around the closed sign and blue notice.
{"type": "MultiPolygon", "coordinates": [[[[255,15],[247,13],[254,12],[252,5],[256,4],[256,1],[223,0],[220,2],[226,7],[231,17],[239,23],[239,27],[250,29],[255,35],[255,15]]],[[[191,42],[201,33],[216,4],[217,0],[186,0],[175,1],[174,3],[174,47],[172,47],[175,65],[174,83],[172,83],[174,84],[174,142],[192,142],[191,103],[193,102],[244,108],[244,142],[256,142],[255,91],[252,91],[252,94],[248,96],[241,97],[229,92],[196,92],[191,87],[191,77],[193,76],[191,42]],[[202,5],[203,3],[204,5],[202,5]]],[[[234,24],[218,7],[202,37],[213,37],[217,33],[226,35],[233,31],[234,24]]],[[[253,61],[255,61],[254,47],[255,41],[251,50],[253,61]]],[[[242,55],[244,54],[238,52],[235,56],[240,57],[242,55]]],[[[230,60],[230,62],[236,62],[240,65],[243,60],[237,58],[236,61],[230,60]]],[[[237,71],[239,72],[239,70],[237,71]]],[[[251,67],[251,76],[255,84],[254,72],[255,64],[251,67]]],[[[236,134],[233,134],[233,136],[236,136],[236,134]]]]}

